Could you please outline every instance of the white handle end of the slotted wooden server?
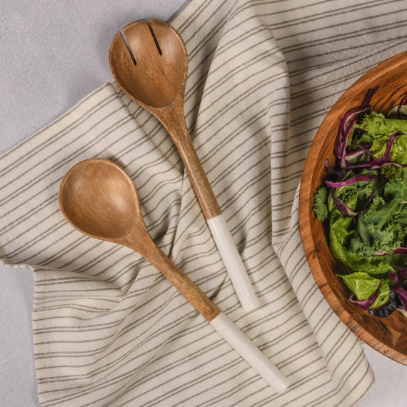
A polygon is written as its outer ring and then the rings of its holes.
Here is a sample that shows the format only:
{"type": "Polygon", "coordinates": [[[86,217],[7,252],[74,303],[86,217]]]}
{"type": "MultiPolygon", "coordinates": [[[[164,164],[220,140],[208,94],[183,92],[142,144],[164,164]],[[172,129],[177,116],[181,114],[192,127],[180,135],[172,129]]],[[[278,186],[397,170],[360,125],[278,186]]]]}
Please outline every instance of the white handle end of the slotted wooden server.
{"type": "Polygon", "coordinates": [[[207,222],[241,306],[246,311],[257,308],[258,299],[256,293],[254,293],[246,268],[243,266],[243,261],[241,261],[241,256],[233,242],[223,215],[220,214],[209,218],[207,222]]]}

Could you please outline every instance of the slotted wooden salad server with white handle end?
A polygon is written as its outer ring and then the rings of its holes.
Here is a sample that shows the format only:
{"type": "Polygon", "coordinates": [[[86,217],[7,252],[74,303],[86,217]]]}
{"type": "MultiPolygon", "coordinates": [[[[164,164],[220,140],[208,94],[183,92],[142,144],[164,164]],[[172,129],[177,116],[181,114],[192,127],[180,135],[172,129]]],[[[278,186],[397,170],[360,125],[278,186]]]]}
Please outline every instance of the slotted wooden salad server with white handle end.
{"type": "Polygon", "coordinates": [[[251,311],[258,298],[186,127],[188,56],[183,39],[164,21],[134,21],[114,37],[109,62],[121,89],[156,116],[173,139],[236,294],[242,307],[251,311]]]}

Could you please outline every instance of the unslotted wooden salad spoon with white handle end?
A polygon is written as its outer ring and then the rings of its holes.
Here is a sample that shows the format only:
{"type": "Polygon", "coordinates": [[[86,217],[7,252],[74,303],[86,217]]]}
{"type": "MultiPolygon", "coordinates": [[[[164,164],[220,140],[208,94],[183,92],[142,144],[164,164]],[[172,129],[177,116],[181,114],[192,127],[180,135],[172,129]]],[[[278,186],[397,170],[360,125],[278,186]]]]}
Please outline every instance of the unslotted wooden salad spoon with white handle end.
{"type": "Polygon", "coordinates": [[[144,223],[136,186],[121,166],[105,159],[76,164],[61,182],[59,206],[81,233],[129,247],[149,260],[270,386],[286,390],[283,373],[156,246],[144,223]]]}

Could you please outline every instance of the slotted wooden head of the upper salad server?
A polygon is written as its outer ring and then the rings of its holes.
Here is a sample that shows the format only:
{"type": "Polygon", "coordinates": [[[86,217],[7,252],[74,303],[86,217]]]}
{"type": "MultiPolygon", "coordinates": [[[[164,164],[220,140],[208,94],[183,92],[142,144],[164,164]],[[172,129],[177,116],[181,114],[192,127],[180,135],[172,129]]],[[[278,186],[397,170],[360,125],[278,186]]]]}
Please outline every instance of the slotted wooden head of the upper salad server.
{"type": "Polygon", "coordinates": [[[145,107],[159,109],[184,97],[188,59],[184,41],[171,26],[154,20],[150,24],[134,21],[124,28],[124,35],[116,35],[110,64],[127,94],[145,107]]]}

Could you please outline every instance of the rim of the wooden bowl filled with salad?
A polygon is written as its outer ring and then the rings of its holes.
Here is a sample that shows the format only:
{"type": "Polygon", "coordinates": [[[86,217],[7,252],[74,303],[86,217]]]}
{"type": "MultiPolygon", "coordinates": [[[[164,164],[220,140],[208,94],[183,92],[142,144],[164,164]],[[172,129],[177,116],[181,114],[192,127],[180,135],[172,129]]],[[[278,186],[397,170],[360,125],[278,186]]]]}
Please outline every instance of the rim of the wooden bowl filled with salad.
{"type": "MultiPolygon", "coordinates": [[[[380,64],[374,66],[373,69],[367,71],[359,79],[353,82],[353,84],[346,91],[343,92],[336,103],[333,104],[331,109],[328,111],[328,114],[326,114],[325,118],[323,119],[321,126],[319,126],[318,131],[316,132],[316,136],[314,137],[310,149],[308,150],[306,162],[303,167],[303,173],[301,175],[298,209],[301,240],[303,243],[303,248],[306,254],[308,265],[311,269],[311,273],[313,274],[313,278],[315,279],[318,288],[323,294],[323,297],[328,302],[329,306],[331,306],[331,308],[341,319],[341,321],[345,323],[346,326],[358,336],[358,338],[371,346],[371,348],[382,353],[384,356],[387,356],[388,358],[391,358],[394,361],[407,366],[407,355],[401,353],[395,348],[392,348],[388,344],[383,343],[383,341],[379,340],[378,338],[376,338],[376,336],[373,336],[372,333],[363,328],[361,323],[356,321],[356,319],[353,318],[352,314],[343,306],[336,292],[333,291],[331,283],[326,278],[326,275],[321,268],[321,264],[318,261],[318,253],[316,253],[316,243],[314,241],[313,234],[311,233],[312,223],[318,221],[316,220],[316,216],[313,214],[312,211],[313,194],[315,192],[315,189],[312,190],[311,186],[316,176],[313,173],[305,171],[306,169],[310,168],[310,166],[315,164],[316,152],[320,151],[321,144],[326,139],[326,133],[328,129],[332,129],[332,117],[336,118],[338,124],[339,119],[341,119],[346,111],[350,109],[348,104],[349,99],[353,100],[355,99],[354,96],[358,95],[358,97],[363,96],[361,99],[362,101],[364,96],[366,96],[366,92],[368,91],[368,89],[375,86],[380,78],[383,78],[383,76],[386,77],[386,75],[388,75],[391,71],[394,71],[397,67],[402,65],[406,65],[407,71],[407,51],[396,54],[395,56],[392,56],[391,58],[386,59],[380,64]]],[[[357,106],[358,105],[353,107],[357,106]]],[[[336,129],[338,129],[337,126],[336,129]]],[[[321,166],[322,165],[323,164],[321,163],[321,166]]],[[[326,241],[327,239],[325,233],[323,234],[323,239],[325,239],[326,241]]],[[[406,332],[407,331],[403,331],[403,333],[406,332]]]]}

